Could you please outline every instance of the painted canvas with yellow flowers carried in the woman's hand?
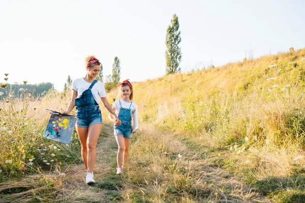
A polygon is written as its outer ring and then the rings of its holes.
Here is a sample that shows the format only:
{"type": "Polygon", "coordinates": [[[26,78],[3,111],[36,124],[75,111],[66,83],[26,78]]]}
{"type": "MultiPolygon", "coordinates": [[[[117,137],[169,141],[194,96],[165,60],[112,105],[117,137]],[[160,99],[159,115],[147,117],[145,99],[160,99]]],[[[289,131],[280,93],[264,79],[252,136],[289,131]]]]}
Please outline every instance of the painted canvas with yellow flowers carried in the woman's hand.
{"type": "Polygon", "coordinates": [[[76,119],[75,116],[52,111],[43,137],[70,145],[76,119]]]}

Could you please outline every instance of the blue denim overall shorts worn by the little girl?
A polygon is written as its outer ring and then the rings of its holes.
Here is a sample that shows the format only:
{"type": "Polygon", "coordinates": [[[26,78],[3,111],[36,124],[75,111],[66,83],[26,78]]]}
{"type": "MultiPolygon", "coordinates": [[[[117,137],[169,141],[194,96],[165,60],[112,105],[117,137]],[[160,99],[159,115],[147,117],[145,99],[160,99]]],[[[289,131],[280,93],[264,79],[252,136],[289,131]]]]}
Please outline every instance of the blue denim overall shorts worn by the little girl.
{"type": "Polygon", "coordinates": [[[119,105],[119,113],[118,119],[122,122],[119,126],[114,124],[114,136],[118,136],[119,134],[123,135],[124,138],[132,138],[132,128],[131,128],[131,105],[130,103],[129,109],[125,109],[122,107],[120,100],[119,105]]]}

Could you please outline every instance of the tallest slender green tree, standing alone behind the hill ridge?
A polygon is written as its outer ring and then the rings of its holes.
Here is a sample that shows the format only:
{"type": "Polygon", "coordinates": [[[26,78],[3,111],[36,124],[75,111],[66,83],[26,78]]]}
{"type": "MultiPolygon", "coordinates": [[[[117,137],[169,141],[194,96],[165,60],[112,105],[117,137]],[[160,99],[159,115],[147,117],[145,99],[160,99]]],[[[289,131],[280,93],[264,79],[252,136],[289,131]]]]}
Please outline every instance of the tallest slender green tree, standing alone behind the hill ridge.
{"type": "Polygon", "coordinates": [[[168,25],[166,32],[166,75],[178,73],[180,71],[181,61],[181,48],[179,44],[181,42],[179,21],[176,14],[173,15],[171,25],[168,25]]]}

